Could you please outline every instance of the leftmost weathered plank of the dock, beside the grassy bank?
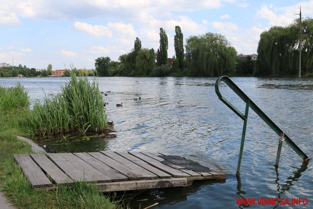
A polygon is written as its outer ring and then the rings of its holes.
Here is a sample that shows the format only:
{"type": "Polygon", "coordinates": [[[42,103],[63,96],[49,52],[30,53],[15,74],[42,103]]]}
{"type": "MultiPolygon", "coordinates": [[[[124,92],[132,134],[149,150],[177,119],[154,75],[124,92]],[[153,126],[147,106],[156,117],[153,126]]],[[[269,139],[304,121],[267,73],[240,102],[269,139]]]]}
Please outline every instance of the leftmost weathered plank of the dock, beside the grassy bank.
{"type": "Polygon", "coordinates": [[[30,158],[29,155],[13,155],[15,161],[22,168],[26,178],[34,188],[52,187],[52,183],[45,176],[40,167],[30,158]]]}

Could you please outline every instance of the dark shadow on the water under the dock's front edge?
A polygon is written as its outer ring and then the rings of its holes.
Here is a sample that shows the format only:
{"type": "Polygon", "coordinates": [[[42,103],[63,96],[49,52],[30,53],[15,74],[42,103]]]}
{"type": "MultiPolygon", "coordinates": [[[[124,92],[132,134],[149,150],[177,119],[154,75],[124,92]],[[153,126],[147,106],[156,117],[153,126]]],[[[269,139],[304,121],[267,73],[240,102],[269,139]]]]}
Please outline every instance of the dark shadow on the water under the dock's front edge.
{"type": "Polygon", "coordinates": [[[146,189],[137,192],[117,192],[119,197],[129,199],[130,208],[145,208],[157,204],[157,206],[169,205],[173,206],[179,202],[187,201],[187,197],[205,185],[223,184],[226,180],[202,180],[194,181],[190,186],[168,187],[159,189],[146,189]]]}

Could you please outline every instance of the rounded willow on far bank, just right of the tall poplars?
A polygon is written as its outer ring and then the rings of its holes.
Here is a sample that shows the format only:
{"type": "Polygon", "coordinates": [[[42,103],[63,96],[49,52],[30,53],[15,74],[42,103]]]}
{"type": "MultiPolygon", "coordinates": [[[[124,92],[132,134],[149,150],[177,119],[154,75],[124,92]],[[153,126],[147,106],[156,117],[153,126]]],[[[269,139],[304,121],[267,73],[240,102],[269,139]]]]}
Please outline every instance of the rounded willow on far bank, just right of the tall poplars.
{"type": "Polygon", "coordinates": [[[236,49],[221,34],[190,36],[185,47],[189,75],[219,76],[235,67],[236,49]]]}

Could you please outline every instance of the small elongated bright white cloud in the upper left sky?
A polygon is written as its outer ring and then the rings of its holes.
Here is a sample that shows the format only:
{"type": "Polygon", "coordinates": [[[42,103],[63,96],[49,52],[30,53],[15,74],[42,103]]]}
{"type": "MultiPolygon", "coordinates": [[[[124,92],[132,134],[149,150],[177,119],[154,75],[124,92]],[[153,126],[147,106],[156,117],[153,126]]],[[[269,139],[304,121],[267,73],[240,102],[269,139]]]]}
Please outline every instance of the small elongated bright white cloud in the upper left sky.
{"type": "Polygon", "coordinates": [[[89,33],[90,35],[95,37],[112,37],[110,29],[104,25],[92,25],[88,23],[75,22],[74,28],[89,33]]]}

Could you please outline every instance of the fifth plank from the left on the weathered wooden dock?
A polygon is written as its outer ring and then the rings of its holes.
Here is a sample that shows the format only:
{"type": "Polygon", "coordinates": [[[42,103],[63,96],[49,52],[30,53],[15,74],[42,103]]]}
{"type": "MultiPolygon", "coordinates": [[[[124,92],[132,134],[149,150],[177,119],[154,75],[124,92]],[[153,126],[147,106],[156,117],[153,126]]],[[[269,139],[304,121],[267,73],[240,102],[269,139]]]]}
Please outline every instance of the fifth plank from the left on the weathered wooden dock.
{"type": "Polygon", "coordinates": [[[128,180],[127,176],[114,170],[109,165],[102,163],[101,161],[95,159],[94,157],[92,157],[91,155],[89,155],[86,152],[84,152],[84,153],[73,153],[73,154],[76,155],[77,157],[79,157],[80,159],[82,159],[83,161],[89,163],[93,167],[95,167],[97,170],[99,170],[104,175],[108,176],[110,181],[117,182],[117,181],[127,181],[128,180]]]}

